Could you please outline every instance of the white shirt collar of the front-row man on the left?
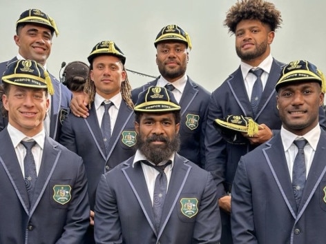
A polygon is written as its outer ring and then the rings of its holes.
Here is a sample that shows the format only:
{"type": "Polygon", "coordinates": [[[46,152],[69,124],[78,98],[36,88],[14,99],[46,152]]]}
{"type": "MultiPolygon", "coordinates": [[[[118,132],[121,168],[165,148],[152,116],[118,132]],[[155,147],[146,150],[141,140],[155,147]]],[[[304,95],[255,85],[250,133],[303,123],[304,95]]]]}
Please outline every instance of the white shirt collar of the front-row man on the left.
{"type": "Polygon", "coordinates": [[[21,132],[20,130],[17,130],[15,127],[10,125],[10,123],[8,123],[7,130],[8,130],[10,139],[12,141],[12,145],[14,145],[14,148],[17,148],[17,145],[19,145],[19,143],[21,141],[29,141],[30,139],[33,139],[34,141],[36,141],[41,149],[44,148],[44,140],[46,137],[46,132],[45,132],[44,128],[41,130],[41,132],[39,132],[38,134],[35,134],[35,136],[32,136],[32,137],[26,136],[26,134],[23,134],[23,132],[21,132]]]}

